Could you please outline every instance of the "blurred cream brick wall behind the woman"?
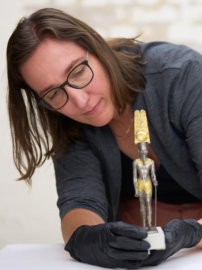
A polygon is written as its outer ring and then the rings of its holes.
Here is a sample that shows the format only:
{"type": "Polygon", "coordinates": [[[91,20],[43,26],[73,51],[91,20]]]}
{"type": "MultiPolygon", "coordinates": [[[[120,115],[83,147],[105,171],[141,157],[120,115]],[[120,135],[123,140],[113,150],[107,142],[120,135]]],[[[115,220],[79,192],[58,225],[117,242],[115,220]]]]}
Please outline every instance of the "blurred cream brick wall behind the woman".
{"type": "Polygon", "coordinates": [[[0,248],[11,243],[63,243],[52,160],[35,171],[29,191],[12,160],[6,109],[6,46],[16,23],[39,8],[55,7],[103,37],[185,44],[202,53],[201,0],[18,0],[0,3],[0,248]]]}

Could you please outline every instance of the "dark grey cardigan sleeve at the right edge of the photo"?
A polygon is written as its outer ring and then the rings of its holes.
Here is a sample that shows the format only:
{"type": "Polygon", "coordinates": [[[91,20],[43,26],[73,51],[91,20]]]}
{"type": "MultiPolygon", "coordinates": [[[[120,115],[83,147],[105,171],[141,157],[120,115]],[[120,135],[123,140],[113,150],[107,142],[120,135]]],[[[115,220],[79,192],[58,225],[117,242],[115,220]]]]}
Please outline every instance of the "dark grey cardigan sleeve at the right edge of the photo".
{"type": "Polygon", "coordinates": [[[173,94],[175,125],[183,132],[202,190],[202,61],[187,60],[173,94]]]}

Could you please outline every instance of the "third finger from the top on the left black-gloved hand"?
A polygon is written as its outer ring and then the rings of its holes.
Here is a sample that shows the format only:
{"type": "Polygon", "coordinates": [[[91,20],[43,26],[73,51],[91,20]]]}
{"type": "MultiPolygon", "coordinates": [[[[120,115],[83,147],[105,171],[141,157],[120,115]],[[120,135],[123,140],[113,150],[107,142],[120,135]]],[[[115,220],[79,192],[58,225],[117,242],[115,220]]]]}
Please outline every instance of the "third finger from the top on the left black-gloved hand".
{"type": "Polygon", "coordinates": [[[110,258],[116,260],[145,260],[148,258],[147,251],[129,251],[124,249],[112,248],[108,245],[105,245],[103,252],[110,258]]]}

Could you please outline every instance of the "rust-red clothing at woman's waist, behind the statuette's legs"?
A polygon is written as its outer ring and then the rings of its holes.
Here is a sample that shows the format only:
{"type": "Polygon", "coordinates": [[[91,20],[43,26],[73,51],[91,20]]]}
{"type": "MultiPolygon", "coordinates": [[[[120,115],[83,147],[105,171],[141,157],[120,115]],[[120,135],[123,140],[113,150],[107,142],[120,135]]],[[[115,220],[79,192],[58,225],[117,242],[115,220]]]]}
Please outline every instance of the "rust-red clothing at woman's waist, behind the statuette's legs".
{"type": "MultiPolygon", "coordinates": [[[[122,221],[128,224],[142,226],[140,202],[137,197],[121,199],[120,210],[122,221]]],[[[152,199],[152,225],[154,225],[155,200],[152,199]]],[[[202,218],[202,201],[191,204],[167,204],[157,201],[157,226],[163,227],[172,219],[202,218]]],[[[146,223],[147,226],[147,223],[146,223]]]]}

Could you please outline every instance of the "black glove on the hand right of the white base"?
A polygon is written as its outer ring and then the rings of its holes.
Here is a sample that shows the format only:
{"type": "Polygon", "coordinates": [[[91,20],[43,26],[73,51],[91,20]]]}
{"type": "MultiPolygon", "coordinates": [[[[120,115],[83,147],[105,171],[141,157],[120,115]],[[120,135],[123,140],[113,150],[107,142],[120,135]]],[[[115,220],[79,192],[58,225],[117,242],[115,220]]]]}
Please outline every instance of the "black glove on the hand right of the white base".
{"type": "Polygon", "coordinates": [[[195,219],[173,219],[164,227],[165,250],[151,250],[143,265],[157,265],[179,251],[181,248],[192,248],[202,238],[202,225],[195,219]]]}

